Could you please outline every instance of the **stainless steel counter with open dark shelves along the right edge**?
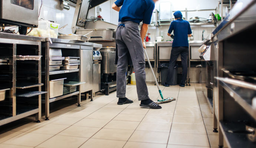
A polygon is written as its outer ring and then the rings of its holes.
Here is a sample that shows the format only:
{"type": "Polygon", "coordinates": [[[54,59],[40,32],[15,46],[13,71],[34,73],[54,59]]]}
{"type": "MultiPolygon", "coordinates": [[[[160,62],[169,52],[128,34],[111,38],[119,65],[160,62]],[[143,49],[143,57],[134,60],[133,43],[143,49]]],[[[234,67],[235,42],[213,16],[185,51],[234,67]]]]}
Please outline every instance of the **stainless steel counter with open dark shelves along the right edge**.
{"type": "Polygon", "coordinates": [[[224,141],[229,148],[256,147],[247,137],[253,134],[245,134],[246,125],[256,125],[256,82],[247,75],[256,75],[255,40],[247,38],[256,33],[255,10],[256,0],[240,1],[213,31],[214,128],[219,128],[220,148],[224,141]]]}

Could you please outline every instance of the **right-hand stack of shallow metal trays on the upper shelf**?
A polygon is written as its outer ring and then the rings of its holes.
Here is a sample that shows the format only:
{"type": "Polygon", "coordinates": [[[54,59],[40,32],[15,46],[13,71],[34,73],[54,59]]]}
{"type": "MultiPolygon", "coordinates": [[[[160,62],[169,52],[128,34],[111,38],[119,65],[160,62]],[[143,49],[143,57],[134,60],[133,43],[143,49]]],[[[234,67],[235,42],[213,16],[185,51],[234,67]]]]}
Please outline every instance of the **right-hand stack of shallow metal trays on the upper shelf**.
{"type": "Polygon", "coordinates": [[[62,70],[74,70],[78,69],[80,65],[79,57],[65,57],[63,61],[63,66],[61,67],[62,70]]]}

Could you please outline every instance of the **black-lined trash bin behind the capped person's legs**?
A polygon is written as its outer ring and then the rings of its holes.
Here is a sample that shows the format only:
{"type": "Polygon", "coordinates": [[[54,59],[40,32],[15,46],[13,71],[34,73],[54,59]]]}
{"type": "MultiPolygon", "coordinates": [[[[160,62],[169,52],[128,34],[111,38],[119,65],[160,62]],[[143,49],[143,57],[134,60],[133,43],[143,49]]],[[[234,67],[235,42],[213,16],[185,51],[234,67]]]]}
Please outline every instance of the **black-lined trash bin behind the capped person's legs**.
{"type": "MultiPolygon", "coordinates": [[[[169,63],[161,63],[158,66],[158,73],[161,72],[161,84],[164,85],[166,82],[166,77],[168,73],[169,63]]],[[[171,79],[170,85],[177,85],[177,73],[178,73],[178,64],[176,63],[173,70],[173,78],[171,79]]]]}

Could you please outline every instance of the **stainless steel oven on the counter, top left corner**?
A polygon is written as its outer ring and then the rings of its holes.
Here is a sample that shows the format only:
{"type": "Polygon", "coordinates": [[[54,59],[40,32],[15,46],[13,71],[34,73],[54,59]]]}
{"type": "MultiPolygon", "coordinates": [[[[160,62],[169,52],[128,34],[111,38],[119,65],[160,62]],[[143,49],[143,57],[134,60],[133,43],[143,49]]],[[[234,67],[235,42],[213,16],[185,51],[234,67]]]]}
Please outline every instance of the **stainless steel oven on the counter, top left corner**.
{"type": "Polygon", "coordinates": [[[37,27],[38,0],[0,0],[0,26],[8,25],[21,26],[19,32],[23,35],[27,27],[37,27]]]}

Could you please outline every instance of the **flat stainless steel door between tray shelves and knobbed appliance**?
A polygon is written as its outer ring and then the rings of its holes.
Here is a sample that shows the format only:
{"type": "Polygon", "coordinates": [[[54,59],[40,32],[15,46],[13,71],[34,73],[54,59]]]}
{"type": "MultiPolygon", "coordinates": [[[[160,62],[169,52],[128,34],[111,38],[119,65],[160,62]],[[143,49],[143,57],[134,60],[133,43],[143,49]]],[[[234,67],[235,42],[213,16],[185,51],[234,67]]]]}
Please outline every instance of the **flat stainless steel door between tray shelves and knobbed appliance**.
{"type": "Polygon", "coordinates": [[[92,90],[92,50],[81,50],[81,81],[86,82],[81,84],[81,93],[92,90]]]}

